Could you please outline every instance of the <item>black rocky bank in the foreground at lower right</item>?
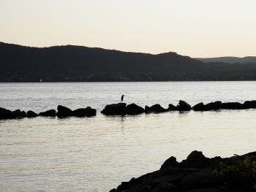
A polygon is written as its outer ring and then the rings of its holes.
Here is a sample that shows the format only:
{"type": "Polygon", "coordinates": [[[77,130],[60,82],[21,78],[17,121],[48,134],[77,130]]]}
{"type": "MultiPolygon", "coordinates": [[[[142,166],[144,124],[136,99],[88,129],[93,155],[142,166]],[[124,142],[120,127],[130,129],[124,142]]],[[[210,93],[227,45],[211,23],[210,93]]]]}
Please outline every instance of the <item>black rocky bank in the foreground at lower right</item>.
{"type": "Polygon", "coordinates": [[[155,172],[123,182],[110,192],[256,191],[256,152],[230,158],[206,158],[193,151],[177,162],[168,158],[155,172]]]}

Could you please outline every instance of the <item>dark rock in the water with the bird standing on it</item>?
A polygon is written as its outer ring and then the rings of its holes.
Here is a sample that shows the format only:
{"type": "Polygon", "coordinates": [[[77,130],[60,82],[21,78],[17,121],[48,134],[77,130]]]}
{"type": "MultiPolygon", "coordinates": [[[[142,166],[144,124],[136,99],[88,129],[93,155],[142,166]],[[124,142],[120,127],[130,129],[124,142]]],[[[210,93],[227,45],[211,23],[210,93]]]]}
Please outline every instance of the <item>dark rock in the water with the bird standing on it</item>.
{"type": "Polygon", "coordinates": [[[118,104],[108,104],[102,110],[102,114],[104,115],[125,115],[125,108],[127,104],[118,103],[118,104]]]}

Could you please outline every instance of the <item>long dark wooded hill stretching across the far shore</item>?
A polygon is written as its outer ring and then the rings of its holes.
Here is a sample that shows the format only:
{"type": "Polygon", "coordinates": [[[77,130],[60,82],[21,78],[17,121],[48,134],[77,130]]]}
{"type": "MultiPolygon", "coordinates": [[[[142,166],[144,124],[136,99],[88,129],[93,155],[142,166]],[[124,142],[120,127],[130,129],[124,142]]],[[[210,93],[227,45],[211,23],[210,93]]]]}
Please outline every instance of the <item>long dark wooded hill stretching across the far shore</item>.
{"type": "Polygon", "coordinates": [[[0,82],[256,80],[256,64],[205,64],[177,53],[0,42],[0,82]]]}

